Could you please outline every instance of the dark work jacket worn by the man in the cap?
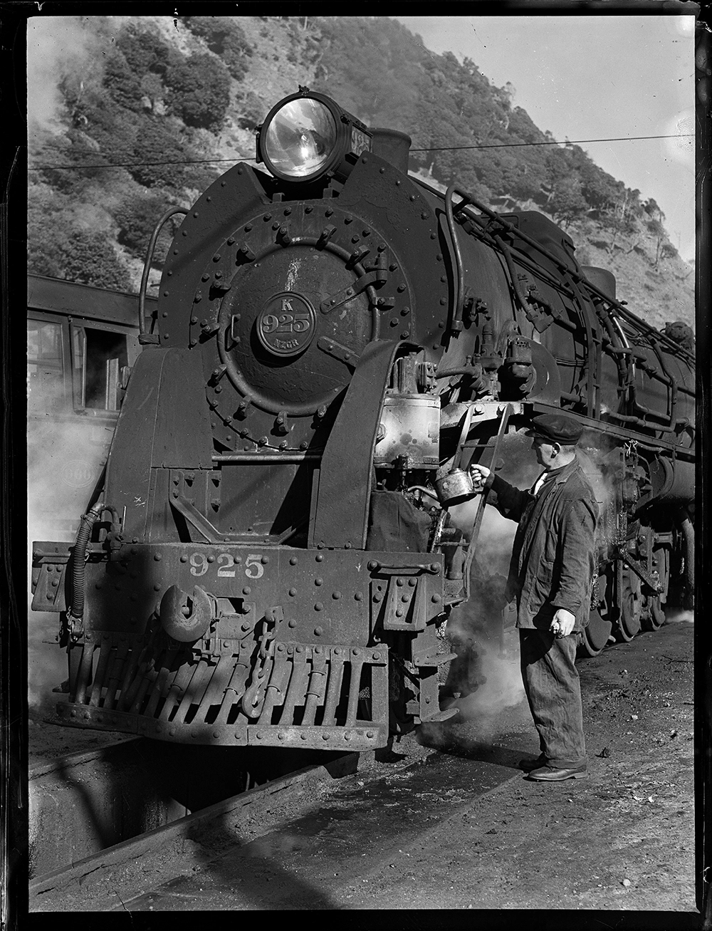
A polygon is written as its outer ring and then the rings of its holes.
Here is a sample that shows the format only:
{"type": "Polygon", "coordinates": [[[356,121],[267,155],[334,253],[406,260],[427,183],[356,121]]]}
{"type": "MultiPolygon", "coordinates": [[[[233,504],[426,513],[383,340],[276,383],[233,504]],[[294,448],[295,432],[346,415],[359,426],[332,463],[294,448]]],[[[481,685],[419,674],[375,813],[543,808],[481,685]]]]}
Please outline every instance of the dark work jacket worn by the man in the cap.
{"type": "Polygon", "coordinates": [[[547,475],[535,495],[493,473],[485,483],[488,504],[517,520],[505,589],[517,601],[517,627],[548,630],[558,608],[588,623],[596,568],[598,504],[578,459],[547,475]]]}

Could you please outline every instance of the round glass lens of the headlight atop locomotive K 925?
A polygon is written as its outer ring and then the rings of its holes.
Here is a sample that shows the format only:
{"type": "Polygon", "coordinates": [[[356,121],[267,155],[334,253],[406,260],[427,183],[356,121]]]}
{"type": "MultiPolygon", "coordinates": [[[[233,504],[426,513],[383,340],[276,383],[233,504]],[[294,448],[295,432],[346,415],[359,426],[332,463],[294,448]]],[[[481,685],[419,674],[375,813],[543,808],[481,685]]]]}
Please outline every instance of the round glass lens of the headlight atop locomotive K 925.
{"type": "Polygon", "coordinates": [[[337,144],[337,126],[329,108],[304,97],[289,101],[272,117],[264,133],[264,155],[282,177],[306,178],[323,169],[337,144]]]}

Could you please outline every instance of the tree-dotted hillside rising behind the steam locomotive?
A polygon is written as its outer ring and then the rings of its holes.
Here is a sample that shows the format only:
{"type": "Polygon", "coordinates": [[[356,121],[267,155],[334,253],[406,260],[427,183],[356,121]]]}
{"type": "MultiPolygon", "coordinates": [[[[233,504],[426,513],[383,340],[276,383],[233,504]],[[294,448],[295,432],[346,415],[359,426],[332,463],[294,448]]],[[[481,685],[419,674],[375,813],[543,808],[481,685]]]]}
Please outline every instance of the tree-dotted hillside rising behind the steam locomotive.
{"type": "MultiPolygon", "coordinates": [[[[442,151],[552,140],[474,61],[428,52],[395,20],[92,17],[76,20],[75,34],[73,56],[52,72],[52,118],[30,115],[28,254],[37,274],[138,290],[156,219],[189,206],[234,161],[253,159],[255,126],[306,85],[371,126],[408,132],[413,150],[430,150],[412,152],[411,170],[433,186],[457,180],[493,209],[551,216],[579,261],[611,270],[619,299],[653,326],[694,326],[692,267],[655,201],[575,145],[442,151]]],[[[153,285],[171,232],[168,223],[153,285]]]]}

